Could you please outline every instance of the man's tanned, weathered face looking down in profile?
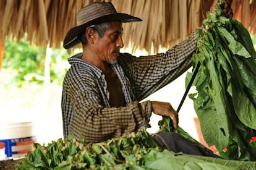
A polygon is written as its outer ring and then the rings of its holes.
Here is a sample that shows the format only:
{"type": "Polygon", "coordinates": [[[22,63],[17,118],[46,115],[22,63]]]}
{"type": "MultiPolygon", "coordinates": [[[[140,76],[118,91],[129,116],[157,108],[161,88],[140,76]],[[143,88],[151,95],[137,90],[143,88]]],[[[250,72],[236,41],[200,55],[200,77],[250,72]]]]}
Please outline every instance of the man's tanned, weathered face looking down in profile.
{"type": "Polygon", "coordinates": [[[114,63],[119,55],[119,49],[124,46],[122,42],[122,23],[111,22],[111,27],[104,36],[96,37],[95,53],[103,62],[114,63]]]}

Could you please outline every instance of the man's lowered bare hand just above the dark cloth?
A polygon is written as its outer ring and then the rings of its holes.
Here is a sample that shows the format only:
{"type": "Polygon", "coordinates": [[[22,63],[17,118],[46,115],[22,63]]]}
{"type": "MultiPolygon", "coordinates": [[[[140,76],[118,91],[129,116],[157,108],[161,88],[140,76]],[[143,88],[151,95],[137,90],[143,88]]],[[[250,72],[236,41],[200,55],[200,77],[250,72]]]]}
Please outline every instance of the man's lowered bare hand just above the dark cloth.
{"type": "Polygon", "coordinates": [[[160,116],[170,116],[173,119],[173,127],[176,129],[179,124],[179,117],[176,110],[173,109],[170,103],[160,101],[151,101],[152,111],[160,116]]]}

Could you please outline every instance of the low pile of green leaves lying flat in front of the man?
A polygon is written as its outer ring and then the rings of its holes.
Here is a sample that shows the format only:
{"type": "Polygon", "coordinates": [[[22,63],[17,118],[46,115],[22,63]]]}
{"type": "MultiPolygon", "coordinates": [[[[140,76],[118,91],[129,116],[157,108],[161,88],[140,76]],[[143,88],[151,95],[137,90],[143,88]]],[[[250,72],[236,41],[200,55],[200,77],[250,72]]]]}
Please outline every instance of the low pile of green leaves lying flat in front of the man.
{"type": "MultiPolygon", "coordinates": [[[[160,121],[168,129],[171,119],[160,121]]],[[[189,135],[178,127],[185,137],[189,135]]],[[[191,141],[195,141],[191,138],[191,141]]],[[[198,143],[195,141],[195,143],[198,143]]],[[[200,143],[198,143],[200,145],[200,143]]],[[[16,164],[15,169],[255,169],[256,162],[234,161],[206,156],[173,153],[161,148],[146,129],[106,142],[85,145],[84,140],[60,138],[35,149],[16,164]]]]}

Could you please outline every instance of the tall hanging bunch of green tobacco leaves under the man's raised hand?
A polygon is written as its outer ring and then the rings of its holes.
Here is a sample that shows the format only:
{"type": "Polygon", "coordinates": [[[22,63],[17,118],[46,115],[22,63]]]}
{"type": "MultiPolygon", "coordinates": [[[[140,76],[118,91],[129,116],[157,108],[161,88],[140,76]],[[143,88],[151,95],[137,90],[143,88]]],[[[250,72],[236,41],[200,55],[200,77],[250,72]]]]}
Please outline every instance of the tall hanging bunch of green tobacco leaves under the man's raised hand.
{"type": "Polygon", "coordinates": [[[224,158],[256,161],[256,51],[242,23],[224,17],[224,6],[218,1],[198,32],[197,92],[189,97],[209,146],[224,158]]]}

